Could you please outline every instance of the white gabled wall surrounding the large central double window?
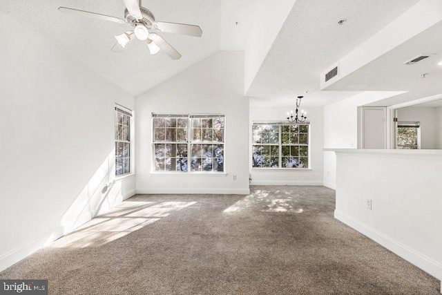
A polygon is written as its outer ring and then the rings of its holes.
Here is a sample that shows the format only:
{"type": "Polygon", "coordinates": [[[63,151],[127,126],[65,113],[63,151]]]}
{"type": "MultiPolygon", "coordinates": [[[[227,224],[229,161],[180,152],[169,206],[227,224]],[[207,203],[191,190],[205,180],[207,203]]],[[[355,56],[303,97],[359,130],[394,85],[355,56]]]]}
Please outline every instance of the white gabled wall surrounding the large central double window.
{"type": "Polygon", "coordinates": [[[219,51],[137,97],[137,193],[249,193],[249,100],[243,93],[244,54],[219,51]],[[225,173],[153,173],[152,113],[224,114],[225,173]]]}

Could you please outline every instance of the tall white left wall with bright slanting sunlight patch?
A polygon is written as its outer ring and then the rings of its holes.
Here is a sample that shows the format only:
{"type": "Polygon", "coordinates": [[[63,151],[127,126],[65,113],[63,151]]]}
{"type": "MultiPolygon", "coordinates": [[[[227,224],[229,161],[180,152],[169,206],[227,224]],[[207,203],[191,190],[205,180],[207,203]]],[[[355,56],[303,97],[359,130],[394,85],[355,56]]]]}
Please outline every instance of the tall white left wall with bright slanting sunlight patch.
{"type": "Polygon", "coordinates": [[[134,193],[113,169],[135,99],[2,12],[0,34],[1,271],[134,193]]]}

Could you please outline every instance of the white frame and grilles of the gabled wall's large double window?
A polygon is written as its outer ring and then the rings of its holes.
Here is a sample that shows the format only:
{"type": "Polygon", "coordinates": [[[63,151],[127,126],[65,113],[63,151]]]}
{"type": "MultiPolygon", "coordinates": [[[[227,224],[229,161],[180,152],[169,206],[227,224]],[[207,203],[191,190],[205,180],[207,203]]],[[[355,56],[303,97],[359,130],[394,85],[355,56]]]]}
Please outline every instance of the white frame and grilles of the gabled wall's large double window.
{"type": "MultiPolygon", "coordinates": [[[[171,127],[172,128],[172,127],[171,127]]],[[[184,113],[184,114],[164,114],[164,113],[152,113],[152,167],[151,172],[152,173],[177,173],[177,174],[183,174],[183,175],[189,175],[189,174],[216,174],[216,175],[222,175],[226,172],[226,153],[225,153],[225,142],[226,142],[226,116],[224,114],[193,114],[193,113],[184,113]],[[187,140],[185,142],[170,142],[170,141],[156,141],[155,140],[155,117],[170,117],[170,118],[186,118],[187,120],[187,140]],[[203,140],[193,140],[193,126],[192,126],[192,120],[195,118],[202,118],[202,119],[211,119],[215,117],[222,117],[224,119],[224,127],[223,127],[223,137],[222,142],[217,141],[203,141],[203,140]],[[187,170],[186,171],[180,171],[180,170],[156,170],[155,169],[155,144],[186,144],[187,146],[187,170]],[[198,170],[198,171],[192,171],[192,145],[193,144],[208,144],[208,145],[222,145],[222,171],[215,171],[214,165],[212,165],[211,171],[204,171],[204,170],[198,170]]],[[[172,155],[171,160],[176,159],[177,157],[172,155]]],[[[201,158],[202,159],[202,158],[201,158]]],[[[213,160],[215,160],[215,155],[212,157],[213,160]]]]}

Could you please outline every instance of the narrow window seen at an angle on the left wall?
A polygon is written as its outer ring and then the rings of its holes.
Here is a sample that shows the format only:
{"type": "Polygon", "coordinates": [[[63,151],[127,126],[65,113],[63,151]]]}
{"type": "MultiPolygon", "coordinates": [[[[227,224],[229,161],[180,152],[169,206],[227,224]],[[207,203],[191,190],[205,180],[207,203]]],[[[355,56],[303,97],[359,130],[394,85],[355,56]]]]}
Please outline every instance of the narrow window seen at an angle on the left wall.
{"type": "Polygon", "coordinates": [[[131,111],[115,107],[115,175],[131,173],[131,111]]]}

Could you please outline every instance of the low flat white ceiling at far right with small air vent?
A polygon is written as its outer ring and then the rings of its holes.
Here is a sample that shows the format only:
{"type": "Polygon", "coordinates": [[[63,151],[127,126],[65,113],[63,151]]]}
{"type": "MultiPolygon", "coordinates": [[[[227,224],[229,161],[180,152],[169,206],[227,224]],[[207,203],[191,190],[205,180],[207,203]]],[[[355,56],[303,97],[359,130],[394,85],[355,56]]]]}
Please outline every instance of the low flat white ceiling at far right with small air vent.
{"type": "Polygon", "coordinates": [[[383,99],[370,105],[390,106],[407,100],[442,93],[442,21],[408,39],[343,77],[330,86],[345,91],[407,91],[396,97],[383,99]],[[423,53],[430,57],[411,66],[402,65],[423,53]],[[425,78],[421,75],[425,74],[425,78]]]}

